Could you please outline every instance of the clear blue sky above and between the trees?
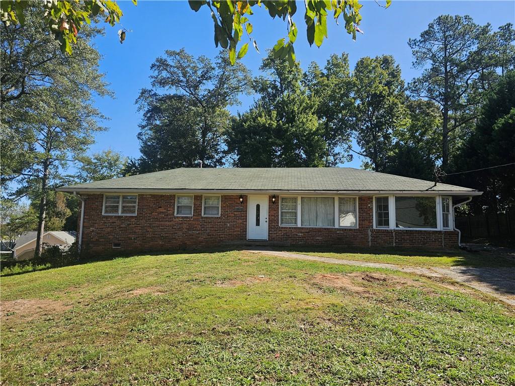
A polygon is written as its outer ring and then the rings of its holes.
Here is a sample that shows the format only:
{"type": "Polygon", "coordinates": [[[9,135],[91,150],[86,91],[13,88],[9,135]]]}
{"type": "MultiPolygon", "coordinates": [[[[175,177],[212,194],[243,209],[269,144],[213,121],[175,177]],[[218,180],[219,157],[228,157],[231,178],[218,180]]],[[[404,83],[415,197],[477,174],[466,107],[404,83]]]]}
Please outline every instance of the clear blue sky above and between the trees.
{"type": "MultiPolygon", "coordinates": [[[[97,98],[100,111],[111,118],[104,122],[108,131],[96,135],[91,152],[113,149],[126,156],[139,156],[139,142],[136,134],[141,113],[134,101],[143,87],[149,87],[150,65],[164,54],[166,49],[184,47],[194,56],[205,55],[214,58],[218,52],[213,42],[213,22],[207,7],[199,12],[190,9],[186,1],[144,1],[135,7],[130,1],[118,2],[124,16],[122,24],[128,30],[126,41],[118,42],[120,27],[106,27],[106,35],[98,37],[95,44],[104,57],[101,72],[106,74],[115,98],[97,98]]],[[[351,68],[364,56],[390,54],[400,64],[406,81],[418,75],[411,66],[409,38],[416,38],[426,29],[428,23],[440,14],[470,15],[478,24],[490,23],[494,29],[506,23],[515,23],[515,2],[513,1],[402,1],[392,0],[388,9],[379,7],[374,1],[362,1],[363,22],[353,42],[344,26],[337,26],[328,18],[329,39],[320,48],[310,47],[305,36],[303,21],[304,4],[300,2],[294,21],[299,26],[299,37],[295,43],[297,59],[302,68],[316,61],[324,65],[331,54],[348,52],[351,68]]],[[[384,3],[384,2],[383,2],[384,3]]],[[[286,24],[279,19],[272,20],[268,12],[256,9],[251,16],[254,26],[253,37],[258,42],[261,54],[252,48],[243,63],[258,74],[265,50],[278,39],[286,36],[286,24]]],[[[242,97],[242,105],[231,109],[233,113],[247,110],[252,96],[242,97]]],[[[359,167],[361,160],[355,159],[342,166],[359,167]]]]}

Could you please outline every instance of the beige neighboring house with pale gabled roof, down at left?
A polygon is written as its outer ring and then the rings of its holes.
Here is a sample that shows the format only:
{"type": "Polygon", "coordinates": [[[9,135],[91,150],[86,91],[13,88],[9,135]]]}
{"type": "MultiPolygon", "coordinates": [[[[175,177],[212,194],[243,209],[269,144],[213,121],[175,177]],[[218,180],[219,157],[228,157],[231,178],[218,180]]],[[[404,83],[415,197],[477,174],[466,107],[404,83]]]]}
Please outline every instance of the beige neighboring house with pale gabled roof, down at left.
{"type": "MultiPolygon", "coordinates": [[[[36,251],[36,238],[38,232],[24,232],[16,239],[13,250],[13,257],[16,260],[28,260],[34,257],[36,251]]],[[[75,235],[72,232],[48,231],[43,233],[43,247],[58,245],[61,248],[69,248],[75,242],[75,235]]]]}

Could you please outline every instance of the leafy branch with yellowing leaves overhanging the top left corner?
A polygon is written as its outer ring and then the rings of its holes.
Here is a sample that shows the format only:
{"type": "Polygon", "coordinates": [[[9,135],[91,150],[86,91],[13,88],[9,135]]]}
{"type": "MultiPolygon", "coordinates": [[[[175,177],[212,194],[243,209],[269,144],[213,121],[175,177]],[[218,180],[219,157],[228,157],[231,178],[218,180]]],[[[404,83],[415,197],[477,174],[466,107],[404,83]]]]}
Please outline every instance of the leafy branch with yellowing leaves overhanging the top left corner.
{"type": "MultiPolygon", "coordinates": [[[[72,44],[77,43],[77,34],[85,23],[91,24],[91,19],[96,16],[105,17],[104,21],[114,26],[119,23],[123,15],[122,10],[114,0],[85,0],[78,1],[57,1],[44,0],[43,20],[56,40],[61,44],[61,51],[72,55],[72,44]]],[[[134,5],[137,0],[132,0],[134,5]]],[[[6,25],[10,23],[24,24],[28,1],[2,0],[0,2],[0,20],[6,25]]],[[[125,31],[124,31],[125,34],[125,31]]],[[[120,38],[123,42],[123,39],[120,38]]]]}

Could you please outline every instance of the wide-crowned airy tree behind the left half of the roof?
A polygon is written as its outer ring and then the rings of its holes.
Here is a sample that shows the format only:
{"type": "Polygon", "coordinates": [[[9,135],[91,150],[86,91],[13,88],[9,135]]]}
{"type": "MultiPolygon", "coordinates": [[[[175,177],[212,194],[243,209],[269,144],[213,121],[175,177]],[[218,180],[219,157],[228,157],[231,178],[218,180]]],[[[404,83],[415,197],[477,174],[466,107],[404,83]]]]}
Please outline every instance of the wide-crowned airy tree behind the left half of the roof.
{"type": "Polygon", "coordinates": [[[222,55],[213,63],[181,49],[166,51],[151,69],[153,89],[143,89],[138,98],[143,111],[140,172],[219,166],[222,135],[229,124],[227,107],[248,92],[247,68],[241,63],[231,66],[222,55]]]}

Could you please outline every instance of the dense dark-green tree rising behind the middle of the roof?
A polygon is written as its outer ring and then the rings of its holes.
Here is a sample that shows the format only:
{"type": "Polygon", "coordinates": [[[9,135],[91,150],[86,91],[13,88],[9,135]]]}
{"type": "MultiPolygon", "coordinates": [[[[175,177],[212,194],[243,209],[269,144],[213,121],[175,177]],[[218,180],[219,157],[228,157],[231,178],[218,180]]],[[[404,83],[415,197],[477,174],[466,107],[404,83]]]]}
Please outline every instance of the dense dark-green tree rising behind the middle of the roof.
{"type": "Polygon", "coordinates": [[[285,58],[274,57],[270,51],[260,69],[264,75],[254,80],[260,98],[240,116],[241,121],[234,121],[228,135],[227,147],[236,153],[235,165],[323,166],[327,152],[317,104],[301,83],[299,64],[291,68],[285,58]],[[262,151],[269,151],[269,156],[260,154],[262,151]]]}

